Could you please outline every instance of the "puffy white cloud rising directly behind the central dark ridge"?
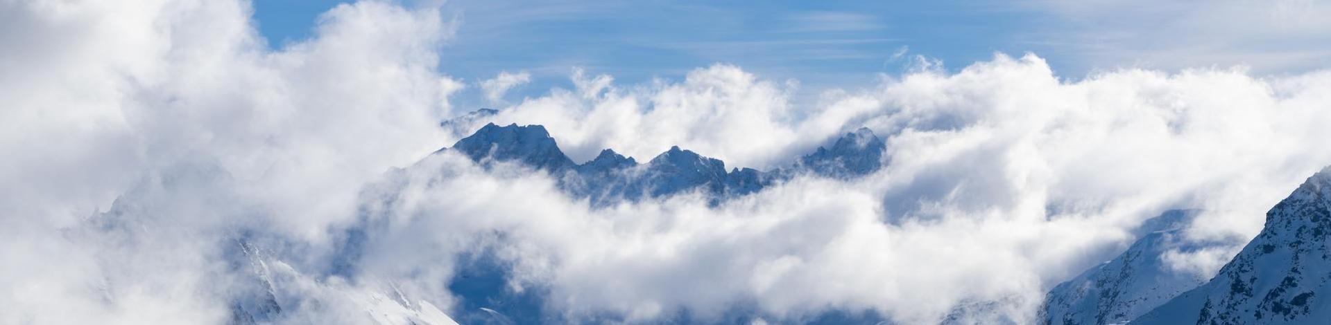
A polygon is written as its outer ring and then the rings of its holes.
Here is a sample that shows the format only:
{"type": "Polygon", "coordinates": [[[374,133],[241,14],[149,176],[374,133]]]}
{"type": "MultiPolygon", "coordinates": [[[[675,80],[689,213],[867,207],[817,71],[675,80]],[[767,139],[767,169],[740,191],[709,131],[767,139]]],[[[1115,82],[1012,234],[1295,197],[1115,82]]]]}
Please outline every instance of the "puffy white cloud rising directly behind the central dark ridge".
{"type": "Polygon", "coordinates": [[[582,89],[528,98],[500,110],[496,121],[544,125],[575,161],[607,147],[651,159],[677,145],[729,166],[775,166],[789,158],[792,143],[808,147],[824,139],[796,137],[789,92],[736,66],[713,65],[689,72],[683,82],[638,88],[578,76],[582,89]]]}

